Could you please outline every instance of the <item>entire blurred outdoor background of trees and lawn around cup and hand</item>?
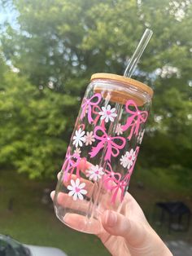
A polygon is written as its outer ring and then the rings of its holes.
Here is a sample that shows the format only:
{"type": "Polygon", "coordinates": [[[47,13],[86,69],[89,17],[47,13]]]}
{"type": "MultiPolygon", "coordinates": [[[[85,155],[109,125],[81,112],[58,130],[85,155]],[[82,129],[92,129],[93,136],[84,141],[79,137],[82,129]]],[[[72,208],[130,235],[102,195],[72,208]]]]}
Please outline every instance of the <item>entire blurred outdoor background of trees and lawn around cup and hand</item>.
{"type": "Polygon", "coordinates": [[[108,255],[59,223],[49,193],[91,74],[122,75],[146,28],[133,78],[155,96],[129,192],[164,241],[192,244],[185,210],[179,222],[157,205],[192,210],[191,0],[0,0],[0,233],[108,255]]]}

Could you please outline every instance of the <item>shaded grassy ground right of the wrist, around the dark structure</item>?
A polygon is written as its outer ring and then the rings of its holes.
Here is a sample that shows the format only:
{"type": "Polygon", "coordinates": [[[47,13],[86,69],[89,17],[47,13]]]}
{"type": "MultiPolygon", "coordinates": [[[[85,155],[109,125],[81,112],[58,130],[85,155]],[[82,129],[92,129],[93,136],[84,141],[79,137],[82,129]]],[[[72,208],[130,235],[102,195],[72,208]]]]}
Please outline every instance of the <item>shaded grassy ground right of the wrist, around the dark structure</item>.
{"type": "MultiPolygon", "coordinates": [[[[135,170],[129,192],[134,196],[151,226],[164,241],[183,240],[192,244],[192,223],[189,232],[168,232],[168,223],[159,225],[158,201],[182,201],[192,212],[192,187],[181,185],[168,170],[135,170]]],[[[168,216],[167,216],[168,220],[168,216]]]]}

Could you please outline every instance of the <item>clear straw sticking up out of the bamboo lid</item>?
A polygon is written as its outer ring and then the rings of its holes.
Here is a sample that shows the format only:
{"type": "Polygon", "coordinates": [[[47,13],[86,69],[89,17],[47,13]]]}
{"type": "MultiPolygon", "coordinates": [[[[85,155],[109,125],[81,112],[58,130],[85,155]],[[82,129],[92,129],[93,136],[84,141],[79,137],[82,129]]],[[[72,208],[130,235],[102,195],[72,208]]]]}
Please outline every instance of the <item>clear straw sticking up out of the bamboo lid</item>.
{"type": "Polygon", "coordinates": [[[145,32],[142,35],[142,39],[140,40],[137,49],[133,53],[133,56],[131,60],[129,61],[129,64],[127,68],[124,70],[124,77],[131,77],[133,74],[133,71],[137,65],[138,60],[142,56],[143,51],[145,50],[148,42],[151,39],[151,36],[153,34],[153,31],[151,29],[146,29],[145,32]]]}

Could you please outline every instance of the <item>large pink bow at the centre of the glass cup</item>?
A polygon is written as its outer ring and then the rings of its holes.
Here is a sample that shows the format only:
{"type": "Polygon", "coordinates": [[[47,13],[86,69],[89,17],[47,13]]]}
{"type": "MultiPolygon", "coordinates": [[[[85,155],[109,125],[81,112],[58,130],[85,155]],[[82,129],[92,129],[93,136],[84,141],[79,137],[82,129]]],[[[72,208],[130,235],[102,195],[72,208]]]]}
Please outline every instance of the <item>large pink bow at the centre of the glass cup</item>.
{"type": "Polygon", "coordinates": [[[120,153],[119,149],[124,148],[124,145],[126,143],[126,139],[124,139],[123,137],[120,137],[120,136],[111,137],[107,135],[106,131],[103,129],[102,126],[96,126],[94,128],[94,138],[100,140],[100,142],[96,147],[92,147],[92,151],[89,152],[89,155],[90,157],[95,157],[98,154],[98,152],[102,148],[104,148],[105,144],[107,144],[107,152],[104,158],[105,161],[107,160],[111,161],[111,155],[113,157],[117,157],[120,153]],[[101,130],[103,132],[102,136],[97,135],[98,130],[101,130]],[[115,143],[114,142],[115,139],[120,139],[120,141],[122,142],[121,145],[118,145],[117,143],[115,143]]]}

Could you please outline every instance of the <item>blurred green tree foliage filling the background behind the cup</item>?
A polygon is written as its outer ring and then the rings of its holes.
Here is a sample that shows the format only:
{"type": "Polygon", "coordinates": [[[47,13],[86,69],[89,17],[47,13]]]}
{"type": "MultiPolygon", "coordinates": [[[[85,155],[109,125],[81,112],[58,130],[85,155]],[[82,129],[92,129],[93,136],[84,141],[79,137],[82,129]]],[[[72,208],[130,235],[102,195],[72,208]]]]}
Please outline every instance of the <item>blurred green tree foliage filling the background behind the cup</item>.
{"type": "Polygon", "coordinates": [[[2,71],[0,161],[32,177],[58,169],[90,75],[122,74],[150,27],[154,36],[134,75],[155,89],[140,165],[188,174],[190,0],[13,0],[11,7],[18,25],[4,24],[1,47],[19,73],[2,71]]]}

